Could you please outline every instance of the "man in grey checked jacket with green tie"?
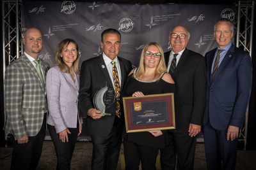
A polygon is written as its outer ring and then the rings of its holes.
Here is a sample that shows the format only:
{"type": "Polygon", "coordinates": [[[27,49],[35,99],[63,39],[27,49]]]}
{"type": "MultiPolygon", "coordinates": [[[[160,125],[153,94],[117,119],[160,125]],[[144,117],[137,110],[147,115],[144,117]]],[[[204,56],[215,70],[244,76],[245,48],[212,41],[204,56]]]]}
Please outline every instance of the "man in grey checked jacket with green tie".
{"type": "Polygon", "coordinates": [[[13,139],[11,169],[36,169],[45,138],[47,102],[45,75],[49,64],[38,57],[42,34],[26,30],[25,52],[6,68],[4,76],[6,134],[13,139]]]}

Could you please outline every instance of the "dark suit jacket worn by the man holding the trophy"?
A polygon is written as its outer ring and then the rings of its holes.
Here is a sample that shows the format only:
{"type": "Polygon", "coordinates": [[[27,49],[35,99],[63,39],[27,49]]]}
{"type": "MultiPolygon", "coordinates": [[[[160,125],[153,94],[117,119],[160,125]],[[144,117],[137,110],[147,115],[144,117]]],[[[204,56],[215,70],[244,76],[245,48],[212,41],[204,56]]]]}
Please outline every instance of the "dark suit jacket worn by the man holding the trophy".
{"type": "MultiPolygon", "coordinates": [[[[132,64],[129,60],[123,59],[121,57],[118,57],[118,60],[120,63],[122,75],[122,93],[125,79],[132,69],[132,64]]],[[[114,88],[102,55],[83,62],[81,67],[78,99],[79,107],[84,115],[87,115],[90,108],[95,108],[93,106],[93,97],[98,90],[106,86],[106,82],[108,82],[108,88],[114,88]]],[[[116,104],[114,103],[111,107],[106,109],[106,113],[112,113],[113,115],[104,116],[98,120],[93,120],[93,118],[88,116],[86,118],[86,125],[90,134],[101,137],[108,136],[115,120],[115,110],[116,104]]]]}

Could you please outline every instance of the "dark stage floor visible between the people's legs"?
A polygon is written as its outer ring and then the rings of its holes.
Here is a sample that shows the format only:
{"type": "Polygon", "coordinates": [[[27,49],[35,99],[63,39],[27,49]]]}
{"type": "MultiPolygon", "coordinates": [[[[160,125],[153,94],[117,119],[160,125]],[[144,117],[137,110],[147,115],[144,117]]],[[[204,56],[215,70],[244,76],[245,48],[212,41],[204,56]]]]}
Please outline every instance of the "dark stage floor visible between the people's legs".
{"type": "MultiPolygon", "coordinates": [[[[12,159],[12,148],[0,148],[0,169],[10,169],[12,159]]],[[[255,150],[239,150],[237,153],[236,170],[256,170],[256,151],[255,150]]],[[[37,169],[56,169],[56,154],[52,141],[44,141],[42,156],[37,169]]],[[[77,142],[72,157],[71,169],[91,169],[92,161],[92,142],[77,142]]],[[[124,150],[123,145],[120,150],[120,159],[116,169],[124,169],[124,150]]],[[[159,169],[159,162],[157,162],[159,169]]],[[[204,143],[196,144],[195,153],[195,170],[205,170],[205,153],[204,143]]]]}

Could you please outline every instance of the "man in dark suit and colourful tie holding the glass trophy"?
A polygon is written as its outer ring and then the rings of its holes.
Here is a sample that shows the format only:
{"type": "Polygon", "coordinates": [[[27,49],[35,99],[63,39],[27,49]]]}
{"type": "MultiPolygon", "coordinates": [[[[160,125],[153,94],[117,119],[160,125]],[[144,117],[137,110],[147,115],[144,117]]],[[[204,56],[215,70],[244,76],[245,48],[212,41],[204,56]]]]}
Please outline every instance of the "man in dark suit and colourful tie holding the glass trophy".
{"type": "Polygon", "coordinates": [[[117,56],[120,45],[120,33],[115,29],[106,29],[101,34],[102,55],[84,61],[81,67],[79,107],[87,115],[86,125],[93,143],[92,169],[95,170],[114,170],[118,162],[124,130],[124,115],[119,114],[118,94],[115,103],[106,108],[105,112],[111,115],[100,114],[93,105],[93,97],[106,85],[108,89],[119,89],[119,94],[122,92],[132,64],[129,60],[117,56]],[[118,78],[113,77],[113,61],[118,78]],[[120,85],[117,85],[116,81],[120,85]]]}

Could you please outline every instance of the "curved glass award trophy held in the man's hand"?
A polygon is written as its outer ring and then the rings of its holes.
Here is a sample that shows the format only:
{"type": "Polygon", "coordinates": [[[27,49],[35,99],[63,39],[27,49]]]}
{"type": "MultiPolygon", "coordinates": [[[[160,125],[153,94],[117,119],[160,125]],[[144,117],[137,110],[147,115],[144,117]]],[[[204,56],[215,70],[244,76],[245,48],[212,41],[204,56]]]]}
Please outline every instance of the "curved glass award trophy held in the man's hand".
{"type": "Polygon", "coordinates": [[[106,82],[106,87],[103,87],[93,97],[94,107],[100,111],[99,114],[111,115],[111,113],[106,113],[105,110],[108,109],[115,102],[115,90],[109,89],[106,82]]]}

